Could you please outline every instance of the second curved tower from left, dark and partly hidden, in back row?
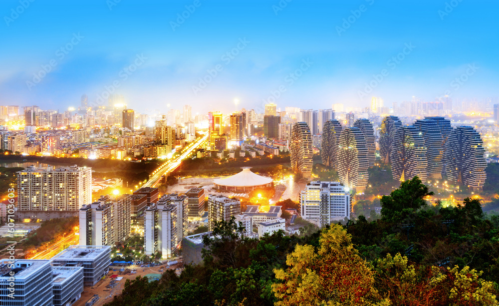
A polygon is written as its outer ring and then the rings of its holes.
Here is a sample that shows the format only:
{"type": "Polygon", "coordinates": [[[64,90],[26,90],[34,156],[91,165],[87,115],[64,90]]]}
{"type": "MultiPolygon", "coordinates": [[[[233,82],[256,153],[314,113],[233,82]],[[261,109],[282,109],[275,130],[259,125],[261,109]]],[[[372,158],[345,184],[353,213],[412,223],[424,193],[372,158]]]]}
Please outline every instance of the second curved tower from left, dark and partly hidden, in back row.
{"type": "Polygon", "coordinates": [[[336,168],[338,141],[341,134],[341,124],[338,120],[327,120],[322,127],[320,158],[322,164],[336,168]]]}

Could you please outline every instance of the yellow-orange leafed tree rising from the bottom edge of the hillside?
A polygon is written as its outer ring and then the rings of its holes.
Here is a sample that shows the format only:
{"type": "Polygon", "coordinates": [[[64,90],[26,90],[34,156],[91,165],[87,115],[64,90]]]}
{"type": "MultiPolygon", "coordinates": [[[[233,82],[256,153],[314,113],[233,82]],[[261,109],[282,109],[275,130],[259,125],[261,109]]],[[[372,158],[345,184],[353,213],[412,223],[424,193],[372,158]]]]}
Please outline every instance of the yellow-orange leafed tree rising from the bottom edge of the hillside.
{"type": "Polygon", "coordinates": [[[278,302],[287,305],[389,305],[374,289],[374,273],[353,248],[340,225],[322,230],[318,252],[296,245],[287,269],[275,269],[281,283],[272,285],[278,302]]]}

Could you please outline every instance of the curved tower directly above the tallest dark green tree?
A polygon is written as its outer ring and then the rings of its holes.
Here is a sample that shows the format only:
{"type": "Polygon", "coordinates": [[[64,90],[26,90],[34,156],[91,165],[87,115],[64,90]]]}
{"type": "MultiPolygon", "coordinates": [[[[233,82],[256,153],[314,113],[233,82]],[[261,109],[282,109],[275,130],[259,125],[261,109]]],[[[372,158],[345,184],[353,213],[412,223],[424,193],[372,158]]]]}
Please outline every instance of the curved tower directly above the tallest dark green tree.
{"type": "Polygon", "coordinates": [[[425,181],[427,160],[423,135],[415,125],[397,129],[390,151],[392,177],[395,180],[410,180],[418,176],[425,181]]]}

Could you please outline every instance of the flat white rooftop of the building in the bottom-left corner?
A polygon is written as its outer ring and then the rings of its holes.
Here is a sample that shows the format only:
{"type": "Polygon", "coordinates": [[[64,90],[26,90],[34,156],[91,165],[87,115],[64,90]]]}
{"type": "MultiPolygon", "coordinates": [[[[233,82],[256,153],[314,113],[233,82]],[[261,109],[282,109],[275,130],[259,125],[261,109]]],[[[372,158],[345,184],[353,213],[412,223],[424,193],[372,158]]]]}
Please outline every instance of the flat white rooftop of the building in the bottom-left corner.
{"type": "Polygon", "coordinates": [[[8,259],[0,260],[0,280],[8,279],[13,276],[16,280],[28,279],[33,274],[47,265],[50,265],[50,260],[34,260],[34,259],[18,259],[12,262],[8,259]],[[14,274],[11,275],[11,272],[14,274]]]}

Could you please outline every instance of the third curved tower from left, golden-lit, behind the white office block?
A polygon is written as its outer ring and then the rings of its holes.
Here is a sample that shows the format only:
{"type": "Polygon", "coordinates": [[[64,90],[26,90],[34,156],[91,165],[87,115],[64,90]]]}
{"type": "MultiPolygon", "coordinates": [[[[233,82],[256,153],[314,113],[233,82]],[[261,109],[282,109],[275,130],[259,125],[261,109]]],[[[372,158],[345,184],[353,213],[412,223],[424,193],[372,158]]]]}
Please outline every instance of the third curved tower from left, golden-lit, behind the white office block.
{"type": "Polygon", "coordinates": [[[365,189],[369,161],[366,139],[358,127],[348,127],[341,132],[337,154],[336,169],[341,182],[357,191],[365,189]]]}

